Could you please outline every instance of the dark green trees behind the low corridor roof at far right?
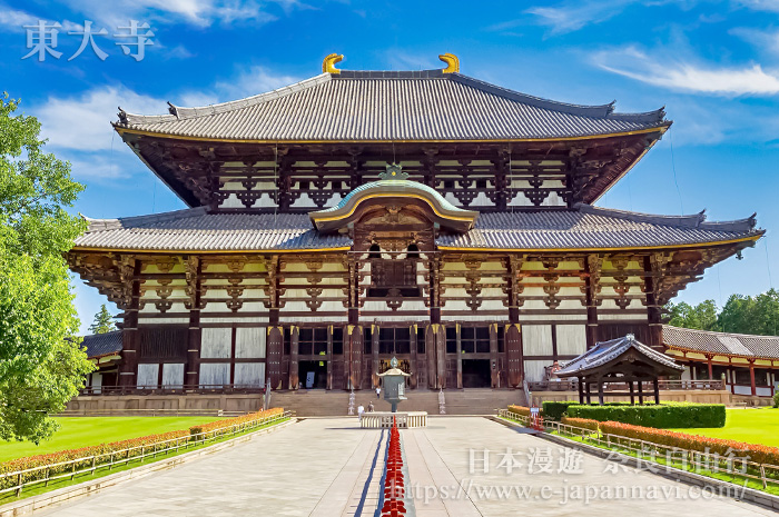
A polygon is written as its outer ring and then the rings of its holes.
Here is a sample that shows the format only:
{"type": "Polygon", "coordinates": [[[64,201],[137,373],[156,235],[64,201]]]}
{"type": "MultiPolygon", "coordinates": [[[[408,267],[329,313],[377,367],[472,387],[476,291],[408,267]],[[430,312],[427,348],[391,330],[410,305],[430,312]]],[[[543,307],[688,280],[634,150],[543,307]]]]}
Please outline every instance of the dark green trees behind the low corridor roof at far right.
{"type": "Polygon", "coordinates": [[[769,289],[755,297],[732,295],[718,312],[713,300],[697,306],[665,306],[669,325],[733,334],[779,336],[779,291],[769,289]]]}

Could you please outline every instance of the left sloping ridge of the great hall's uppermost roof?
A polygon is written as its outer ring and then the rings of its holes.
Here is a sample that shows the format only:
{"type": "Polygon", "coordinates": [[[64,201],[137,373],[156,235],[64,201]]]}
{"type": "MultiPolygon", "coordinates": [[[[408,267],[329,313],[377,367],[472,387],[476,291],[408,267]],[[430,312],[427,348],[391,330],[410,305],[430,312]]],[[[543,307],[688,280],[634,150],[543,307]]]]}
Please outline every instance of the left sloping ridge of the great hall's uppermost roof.
{"type": "Polygon", "coordinates": [[[201,107],[179,107],[171,102],[168,102],[168,111],[170,115],[134,115],[127,113],[121,108],[119,108],[119,123],[131,125],[131,123],[158,123],[167,122],[172,120],[186,120],[197,117],[208,117],[216,113],[224,113],[227,111],[233,111],[240,108],[246,108],[249,106],[259,105],[267,102],[269,100],[279,99],[298,91],[306,90],[308,88],[314,88],[332,79],[331,73],[321,73],[318,76],[310,77],[308,79],[303,79],[300,81],[294,82],[292,84],[277,88],[275,90],[266,91],[264,93],[258,93],[256,96],[245,97],[243,99],[229,100],[226,102],[217,102],[215,105],[201,106],[201,107]]]}

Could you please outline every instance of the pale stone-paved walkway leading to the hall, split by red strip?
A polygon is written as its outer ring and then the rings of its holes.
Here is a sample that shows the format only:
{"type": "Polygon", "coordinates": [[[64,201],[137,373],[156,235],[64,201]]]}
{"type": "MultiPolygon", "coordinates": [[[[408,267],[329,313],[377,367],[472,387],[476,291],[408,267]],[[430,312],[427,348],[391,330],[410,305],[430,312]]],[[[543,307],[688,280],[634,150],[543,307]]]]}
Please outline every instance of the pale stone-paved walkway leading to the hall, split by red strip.
{"type": "MultiPolygon", "coordinates": [[[[418,517],[773,515],[651,473],[613,474],[613,463],[484,418],[431,418],[401,435],[418,517]]],[[[356,419],[304,420],[40,515],[373,516],[386,444],[356,419]]]]}

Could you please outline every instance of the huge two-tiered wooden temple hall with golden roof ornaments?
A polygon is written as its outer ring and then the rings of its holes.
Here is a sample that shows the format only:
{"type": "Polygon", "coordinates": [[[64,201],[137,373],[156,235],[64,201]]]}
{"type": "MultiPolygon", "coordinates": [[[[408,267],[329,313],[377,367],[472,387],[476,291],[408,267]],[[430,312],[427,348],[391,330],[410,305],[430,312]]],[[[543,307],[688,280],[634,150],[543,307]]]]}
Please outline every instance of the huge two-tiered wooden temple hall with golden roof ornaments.
{"type": "Polygon", "coordinates": [[[595,206],[668,130],[662,109],[520,93],[452,54],[342,58],[241,100],[120,110],[187,208],[89,219],[70,251],[124,311],[95,382],[369,389],[396,356],[412,390],[515,388],[628,334],[662,350],[662,305],[763,233],[595,206]]]}

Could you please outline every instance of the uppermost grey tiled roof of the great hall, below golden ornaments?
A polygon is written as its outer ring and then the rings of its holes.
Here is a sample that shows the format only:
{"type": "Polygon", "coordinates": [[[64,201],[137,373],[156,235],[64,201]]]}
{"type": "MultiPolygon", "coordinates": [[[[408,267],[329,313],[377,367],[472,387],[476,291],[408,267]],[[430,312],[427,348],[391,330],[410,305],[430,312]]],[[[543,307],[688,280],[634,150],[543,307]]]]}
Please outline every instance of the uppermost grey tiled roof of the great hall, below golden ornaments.
{"type": "Polygon", "coordinates": [[[460,73],[342,71],[171,115],[120,111],[117,128],[262,141],[505,140],[564,138],[665,127],[662,109],[615,113],[507,90],[460,73]]]}

